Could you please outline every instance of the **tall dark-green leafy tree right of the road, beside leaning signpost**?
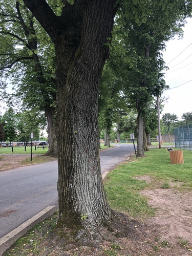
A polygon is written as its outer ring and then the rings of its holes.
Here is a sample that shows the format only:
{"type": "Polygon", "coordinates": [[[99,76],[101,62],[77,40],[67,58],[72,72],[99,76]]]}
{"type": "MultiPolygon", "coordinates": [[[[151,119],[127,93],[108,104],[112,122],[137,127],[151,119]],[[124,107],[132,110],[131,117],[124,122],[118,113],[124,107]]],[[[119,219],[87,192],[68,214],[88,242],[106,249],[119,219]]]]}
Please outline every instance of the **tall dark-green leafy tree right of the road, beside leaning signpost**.
{"type": "MultiPolygon", "coordinates": [[[[137,4],[137,1],[135,1],[137,4]]],[[[144,3],[142,3],[144,4],[144,3]]],[[[137,151],[138,156],[144,156],[143,125],[147,114],[148,104],[154,96],[160,96],[166,88],[163,74],[164,61],[162,50],[164,42],[181,32],[184,18],[187,13],[188,2],[178,1],[176,5],[172,2],[148,2],[148,17],[142,11],[137,13],[135,19],[135,7],[131,6],[132,12],[120,19],[121,26],[117,29],[126,31],[126,37],[122,41],[127,55],[134,56],[135,65],[132,71],[127,72],[126,94],[137,109],[137,151]],[[186,4],[186,5],[185,5],[186,4]],[[142,20],[142,22],[141,22],[142,20]]],[[[121,15],[121,14],[119,14],[121,15]]]]}

